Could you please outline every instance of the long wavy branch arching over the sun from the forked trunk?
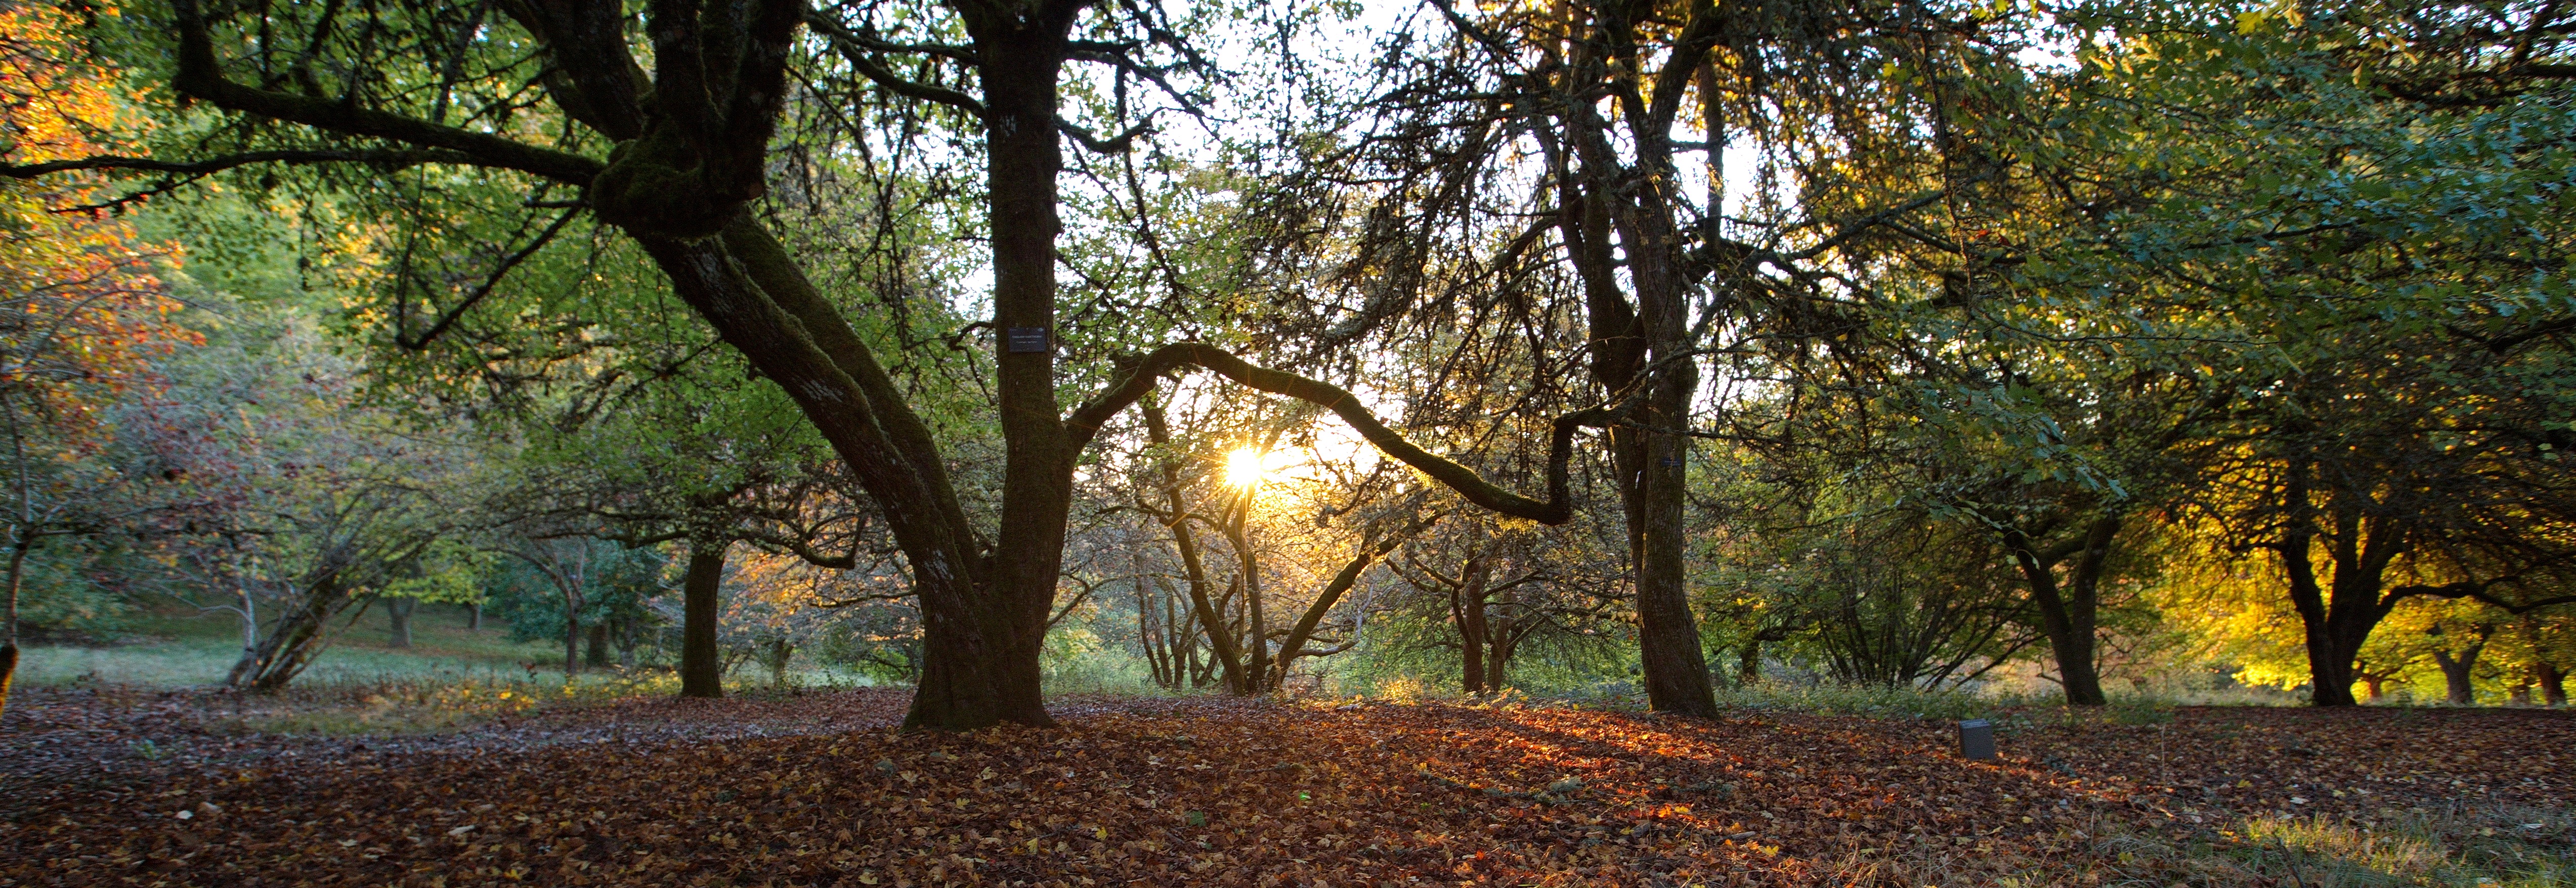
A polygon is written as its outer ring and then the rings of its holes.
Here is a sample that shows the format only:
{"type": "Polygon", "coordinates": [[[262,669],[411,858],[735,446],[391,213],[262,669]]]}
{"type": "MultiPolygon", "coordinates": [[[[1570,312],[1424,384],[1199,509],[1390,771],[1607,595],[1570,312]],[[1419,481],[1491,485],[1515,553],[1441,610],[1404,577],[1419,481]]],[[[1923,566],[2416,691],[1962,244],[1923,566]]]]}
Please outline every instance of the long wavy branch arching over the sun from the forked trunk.
{"type": "Polygon", "coordinates": [[[1502,515],[1535,520],[1540,525],[1564,525],[1566,520],[1574,520],[1574,499],[1566,494],[1566,461],[1574,458],[1574,430],[1610,425],[1610,412],[1600,407],[1556,417],[1556,427],[1548,440],[1548,499],[1540,502],[1502,489],[1494,481],[1481,479],[1473,468],[1458,466],[1437,453],[1422,450],[1412,440],[1404,440],[1404,435],[1396,435],[1396,430],[1386,427],[1386,422],[1378,422],[1378,417],[1370,414],[1368,407],[1360,407],[1358,396],[1342,391],[1334,384],[1314,381],[1285,371],[1257,368],[1244,358],[1234,358],[1231,353],[1216,345],[1172,342],[1157,347],[1151,355],[1139,360],[1118,386],[1103,391],[1097,399],[1092,399],[1072,417],[1066,417],[1064,422],[1069,443],[1074,448],[1087,445],[1092,435],[1100,432],[1103,422],[1115,417],[1128,404],[1136,404],[1136,399],[1151,394],[1157,378],[1188,365],[1213,371],[1249,389],[1293,396],[1298,402],[1332,409],[1337,417],[1342,417],[1345,425],[1350,425],[1350,430],[1360,432],[1360,438],[1368,438],[1368,443],[1376,445],[1378,453],[1394,456],[1406,466],[1414,466],[1432,481],[1440,481],[1443,486],[1458,492],[1473,504],[1481,504],[1502,515]]]}

